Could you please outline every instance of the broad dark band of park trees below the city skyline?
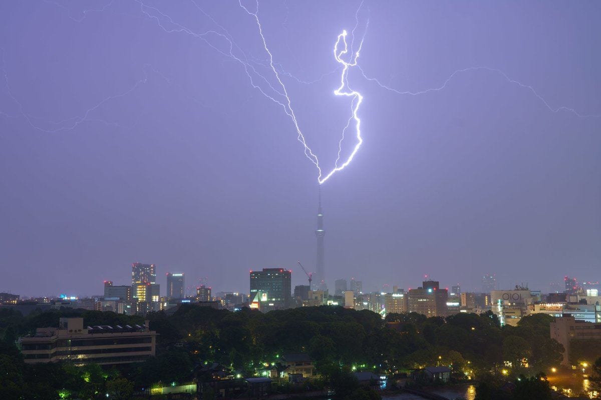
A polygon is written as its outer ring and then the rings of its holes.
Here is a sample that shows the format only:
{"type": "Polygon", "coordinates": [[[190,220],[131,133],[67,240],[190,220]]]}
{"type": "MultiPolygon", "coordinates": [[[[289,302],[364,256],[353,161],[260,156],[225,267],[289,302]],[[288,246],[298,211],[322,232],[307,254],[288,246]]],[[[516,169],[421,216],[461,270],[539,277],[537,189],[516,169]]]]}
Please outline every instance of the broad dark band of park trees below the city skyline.
{"type": "Polygon", "coordinates": [[[389,314],[382,320],[371,311],[334,306],[263,314],[182,305],[172,315],[157,312],[146,317],[150,329],[159,335],[157,355],[145,363],[111,369],[85,367],[91,371],[61,363],[23,363],[14,346],[19,336],[33,333],[36,327],[58,326],[60,317],[75,316],[83,317],[85,326],[144,323],[144,318],[112,312],[61,309],[23,317],[0,309],[0,371],[10,371],[0,374],[0,398],[56,398],[46,397],[46,389],[55,393],[67,390],[81,398],[94,398],[90,393],[97,392],[93,395],[100,398],[108,393],[109,384],[117,398],[120,392],[141,390],[159,381],[190,381],[195,369],[211,363],[230,368],[236,375],[252,376],[266,364],[277,363],[285,353],[309,353],[326,379],[337,376],[341,369],[397,374],[433,365],[450,366],[457,378],[478,377],[507,368],[506,361],[512,365],[509,375],[534,375],[557,366],[563,351],[549,337],[552,317],[545,314],[522,318],[517,327],[501,327],[490,312],[447,318],[389,314]],[[42,375],[40,383],[35,377],[42,375]],[[91,383],[93,389],[88,388],[91,383]],[[7,390],[17,390],[14,393],[20,397],[12,392],[13,397],[6,395],[7,390]],[[82,390],[90,392],[83,395],[82,390]]]}

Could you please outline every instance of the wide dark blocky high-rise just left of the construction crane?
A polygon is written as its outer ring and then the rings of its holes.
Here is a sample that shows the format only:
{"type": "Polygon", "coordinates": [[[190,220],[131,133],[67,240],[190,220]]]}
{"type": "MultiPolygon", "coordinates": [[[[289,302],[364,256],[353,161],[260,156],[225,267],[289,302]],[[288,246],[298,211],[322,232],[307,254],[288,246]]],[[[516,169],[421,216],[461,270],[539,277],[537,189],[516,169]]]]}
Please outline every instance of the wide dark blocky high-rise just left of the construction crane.
{"type": "Polygon", "coordinates": [[[251,271],[251,301],[260,294],[259,302],[273,303],[276,308],[290,306],[290,281],[292,273],[283,268],[263,268],[251,271]]]}

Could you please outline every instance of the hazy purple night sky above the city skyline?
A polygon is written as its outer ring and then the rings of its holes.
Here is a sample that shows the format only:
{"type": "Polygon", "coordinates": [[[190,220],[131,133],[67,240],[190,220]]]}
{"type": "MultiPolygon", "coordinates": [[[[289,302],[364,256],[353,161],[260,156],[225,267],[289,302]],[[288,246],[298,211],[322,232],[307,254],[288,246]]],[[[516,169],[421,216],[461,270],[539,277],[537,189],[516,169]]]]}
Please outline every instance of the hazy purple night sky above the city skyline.
{"type": "MultiPolygon", "coordinates": [[[[258,8],[325,169],[350,117],[334,43],[365,34],[348,76],[364,143],[322,185],[329,287],[601,279],[601,3],[360,4],[258,8]]],[[[0,2],[0,291],[102,294],[134,261],[162,293],[166,272],[248,292],[250,269],[279,266],[306,284],[317,170],[270,86],[237,1],[0,2]]],[[[341,157],[354,145],[351,126],[341,157]]]]}

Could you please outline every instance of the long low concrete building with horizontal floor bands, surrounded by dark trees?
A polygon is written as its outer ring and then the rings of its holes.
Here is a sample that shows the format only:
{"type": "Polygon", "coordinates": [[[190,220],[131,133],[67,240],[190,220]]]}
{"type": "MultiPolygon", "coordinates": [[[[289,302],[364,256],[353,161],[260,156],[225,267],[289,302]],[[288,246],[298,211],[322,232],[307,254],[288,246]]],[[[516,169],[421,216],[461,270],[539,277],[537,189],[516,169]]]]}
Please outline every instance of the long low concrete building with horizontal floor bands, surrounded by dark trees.
{"type": "Polygon", "coordinates": [[[59,326],[38,328],[17,342],[25,363],[60,360],[75,365],[144,362],[154,356],[156,332],[143,326],[86,326],[84,318],[60,318],[59,326]]]}

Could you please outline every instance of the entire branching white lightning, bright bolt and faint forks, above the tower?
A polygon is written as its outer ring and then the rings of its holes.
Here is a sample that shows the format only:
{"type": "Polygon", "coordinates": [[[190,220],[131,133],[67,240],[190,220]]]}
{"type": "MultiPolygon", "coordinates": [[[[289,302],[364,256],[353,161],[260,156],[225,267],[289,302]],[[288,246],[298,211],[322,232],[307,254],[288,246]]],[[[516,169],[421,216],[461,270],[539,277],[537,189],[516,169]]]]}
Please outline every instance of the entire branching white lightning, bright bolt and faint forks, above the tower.
{"type": "MultiPolygon", "coordinates": [[[[83,10],[81,12],[82,17],[76,18],[76,17],[72,16],[69,8],[60,4],[58,1],[55,1],[55,0],[43,0],[43,1],[46,3],[49,3],[49,4],[56,5],[57,7],[60,7],[63,10],[67,11],[68,17],[78,23],[82,22],[84,19],[86,19],[86,17],[89,16],[91,13],[102,13],[102,12],[105,12],[106,10],[108,10],[108,8],[112,8],[115,4],[118,4],[118,2],[115,2],[114,0],[108,0],[108,2],[106,2],[100,8],[91,8],[91,9],[83,10]]],[[[258,0],[255,0],[256,8],[254,11],[251,11],[251,10],[249,10],[248,7],[245,7],[245,5],[242,4],[242,0],[239,0],[239,6],[242,10],[244,10],[246,12],[246,14],[248,14],[249,16],[251,16],[254,19],[254,21],[257,25],[258,34],[260,35],[264,51],[266,52],[266,55],[267,55],[267,58],[264,59],[263,61],[254,59],[250,56],[247,56],[246,53],[236,44],[236,42],[233,40],[232,35],[230,34],[230,32],[228,32],[228,30],[226,28],[224,28],[224,26],[220,25],[210,14],[206,13],[197,4],[197,2],[195,0],[190,0],[190,1],[192,2],[192,4],[194,4],[194,6],[202,14],[204,14],[204,16],[206,16],[208,19],[210,19],[210,21],[213,24],[215,24],[215,26],[216,26],[215,29],[209,29],[207,31],[200,32],[200,33],[195,32],[192,29],[190,29],[184,25],[181,25],[180,23],[175,22],[170,16],[168,16],[167,14],[160,11],[159,8],[156,8],[152,5],[145,4],[143,0],[133,0],[133,2],[135,2],[135,4],[139,5],[139,8],[140,8],[140,11],[142,14],[142,18],[156,22],[157,26],[159,26],[159,28],[162,29],[164,32],[169,33],[169,34],[179,33],[179,34],[191,35],[194,38],[203,40],[209,47],[216,50],[216,52],[218,52],[222,56],[225,56],[225,58],[232,59],[233,61],[239,63],[240,66],[245,71],[245,74],[248,77],[249,83],[251,84],[252,88],[257,89],[257,91],[260,92],[262,95],[264,95],[266,98],[268,98],[269,100],[272,100],[274,103],[278,104],[278,106],[282,107],[285,114],[290,118],[291,122],[293,122],[294,128],[296,129],[296,133],[297,133],[297,140],[299,140],[299,142],[301,142],[301,144],[304,146],[305,157],[307,157],[317,167],[317,171],[319,173],[317,180],[320,185],[324,184],[326,181],[328,181],[328,179],[331,178],[335,173],[340,172],[345,167],[349,166],[349,164],[352,162],[353,158],[355,157],[355,155],[357,154],[357,152],[359,151],[359,148],[361,148],[361,145],[363,143],[363,138],[361,135],[361,119],[359,118],[359,108],[361,107],[361,104],[363,101],[363,96],[360,92],[356,91],[355,89],[352,89],[351,86],[349,85],[349,72],[353,68],[358,69],[360,71],[362,77],[364,77],[364,79],[367,80],[368,82],[375,83],[377,86],[379,86],[382,89],[385,89],[385,90],[391,91],[391,92],[395,92],[396,94],[400,94],[400,95],[421,95],[421,94],[427,94],[429,92],[442,91],[445,88],[447,88],[447,85],[451,80],[453,80],[456,76],[458,76],[460,74],[469,73],[472,71],[488,71],[489,73],[497,74],[498,76],[502,77],[502,79],[506,80],[508,83],[510,83],[512,85],[517,85],[520,88],[531,92],[532,95],[534,95],[536,98],[538,98],[538,100],[541,101],[542,104],[544,104],[544,106],[553,113],[569,112],[580,118],[601,117],[601,114],[597,114],[597,115],[583,114],[583,113],[578,112],[575,109],[572,109],[572,108],[566,107],[566,106],[553,107],[553,106],[551,106],[549,101],[545,100],[545,98],[543,98],[542,95],[538,94],[538,92],[534,89],[533,86],[519,82],[518,80],[511,79],[508,76],[508,74],[504,73],[502,70],[499,70],[496,68],[483,67],[483,66],[468,67],[468,68],[463,68],[461,70],[456,70],[453,73],[451,73],[450,76],[448,76],[448,78],[446,80],[444,80],[442,85],[436,86],[433,88],[429,88],[429,89],[424,89],[422,91],[416,91],[416,92],[401,91],[401,90],[394,89],[389,86],[383,85],[383,83],[381,83],[380,80],[378,80],[377,78],[368,76],[365,73],[365,71],[361,68],[361,66],[358,65],[359,54],[361,52],[361,48],[364,43],[365,35],[363,35],[363,37],[359,43],[358,50],[356,50],[356,52],[354,50],[355,30],[359,25],[358,14],[359,14],[359,10],[361,10],[361,8],[363,6],[363,2],[361,2],[361,5],[359,5],[359,8],[357,9],[357,11],[355,13],[356,24],[355,24],[355,28],[353,28],[353,30],[350,33],[350,37],[351,37],[350,45],[347,41],[349,34],[347,34],[346,30],[343,31],[340,35],[338,35],[337,40],[335,41],[333,52],[334,52],[334,58],[335,58],[336,62],[338,63],[338,67],[328,73],[322,74],[322,76],[320,76],[316,80],[307,81],[307,80],[298,79],[297,77],[288,73],[287,71],[284,70],[284,68],[282,67],[281,64],[278,64],[277,62],[274,61],[272,52],[269,50],[269,47],[267,46],[267,41],[266,41],[266,38],[263,33],[263,26],[261,26],[261,22],[258,17],[258,13],[259,13],[258,0]],[[221,42],[221,44],[219,44],[220,42],[221,42]],[[222,44],[225,44],[225,47],[222,46],[222,44]],[[266,75],[262,74],[257,69],[257,68],[261,69],[260,67],[258,67],[258,65],[261,65],[262,68],[266,68],[266,70],[269,71],[269,74],[273,74],[273,76],[275,76],[275,81],[273,81],[273,79],[268,79],[268,77],[266,75]],[[257,66],[257,68],[255,68],[255,66],[257,66]],[[338,72],[340,72],[340,86],[338,86],[338,88],[334,90],[334,95],[338,96],[338,97],[350,98],[350,117],[347,120],[346,126],[342,130],[341,139],[338,142],[338,155],[337,155],[336,161],[334,163],[334,168],[326,171],[326,170],[322,170],[322,167],[320,166],[319,158],[317,157],[316,154],[314,154],[314,152],[311,150],[310,146],[308,146],[308,144],[307,144],[307,140],[305,139],[305,134],[301,130],[301,127],[299,126],[299,122],[297,121],[297,118],[296,118],[296,114],[294,113],[294,110],[293,110],[293,107],[292,107],[293,102],[291,101],[290,96],[288,95],[288,91],[287,91],[281,77],[287,77],[290,79],[294,79],[299,83],[310,85],[313,83],[320,82],[320,80],[322,80],[325,76],[328,76],[328,75],[334,74],[334,73],[338,73],[338,72]],[[341,161],[342,143],[345,139],[346,133],[349,130],[349,128],[354,128],[356,143],[355,143],[355,146],[352,148],[352,152],[350,152],[348,157],[346,157],[346,159],[344,161],[341,161]]],[[[111,12],[116,13],[114,10],[111,10],[111,12]]],[[[286,16],[286,18],[287,18],[287,16],[286,16]]],[[[284,25],[286,22],[287,22],[287,20],[285,20],[284,25]]],[[[367,20],[366,29],[367,29],[368,24],[369,24],[369,20],[367,20]]],[[[2,65],[4,65],[4,50],[3,49],[0,49],[0,58],[2,60],[2,65]]],[[[44,132],[72,130],[72,129],[75,129],[76,127],[78,127],[78,125],[82,124],[85,121],[88,121],[88,122],[89,121],[97,121],[97,122],[102,122],[106,125],[117,125],[112,122],[91,119],[90,114],[93,113],[94,110],[101,107],[103,104],[107,103],[108,101],[115,99],[115,98],[124,97],[127,94],[130,94],[136,88],[138,88],[138,86],[143,85],[144,83],[147,83],[147,80],[148,80],[147,68],[150,68],[150,67],[148,67],[148,65],[144,65],[144,69],[143,69],[144,76],[141,79],[138,79],[133,86],[130,86],[128,89],[124,90],[121,93],[103,98],[99,103],[96,103],[94,106],[91,106],[87,110],[85,110],[82,115],[76,116],[73,118],[69,118],[69,119],[64,119],[63,121],[48,122],[48,124],[55,124],[55,128],[52,128],[52,129],[46,129],[46,128],[40,127],[40,125],[37,124],[37,122],[35,122],[36,118],[32,117],[31,115],[26,113],[25,110],[23,110],[22,103],[20,103],[20,101],[17,100],[17,97],[14,96],[13,93],[11,92],[10,85],[8,85],[8,77],[7,77],[6,71],[4,68],[2,68],[2,72],[4,73],[4,86],[6,88],[8,96],[17,105],[17,109],[19,110],[19,115],[9,115],[8,113],[2,112],[0,110],[0,116],[4,116],[5,118],[24,117],[26,119],[26,121],[28,122],[28,124],[31,125],[31,127],[35,128],[37,130],[44,131],[44,132]]],[[[153,71],[158,73],[158,71],[156,71],[154,69],[153,69],[153,71]]],[[[166,79],[165,76],[163,76],[163,78],[166,79]]],[[[166,79],[166,80],[168,81],[169,84],[172,84],[171,80],[169,80],[169,79],[166,79]]]]}

